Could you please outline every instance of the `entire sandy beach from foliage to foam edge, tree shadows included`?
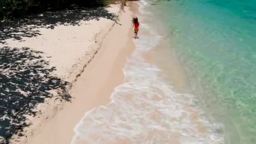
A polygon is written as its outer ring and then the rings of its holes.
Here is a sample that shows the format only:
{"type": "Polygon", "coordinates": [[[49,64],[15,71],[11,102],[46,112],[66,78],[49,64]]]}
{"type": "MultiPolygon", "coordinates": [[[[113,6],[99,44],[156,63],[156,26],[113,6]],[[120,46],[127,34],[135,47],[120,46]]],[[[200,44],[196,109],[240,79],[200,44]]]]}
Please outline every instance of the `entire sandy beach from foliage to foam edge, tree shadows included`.
{"type": "Polygon", "coordinates": [[[0,59],[5,61],[0,63],[0,90],[8,103],[0,107],[0,140],[12,136],[5,142],[69,143],[83,114],[108,103],[123,83],[122,68],[134,47],[132,12],[124,11],[110,5],[48,12],[1,27],[0,59]],[[6,86],[24,77],[23,84],[6,86]]]}

